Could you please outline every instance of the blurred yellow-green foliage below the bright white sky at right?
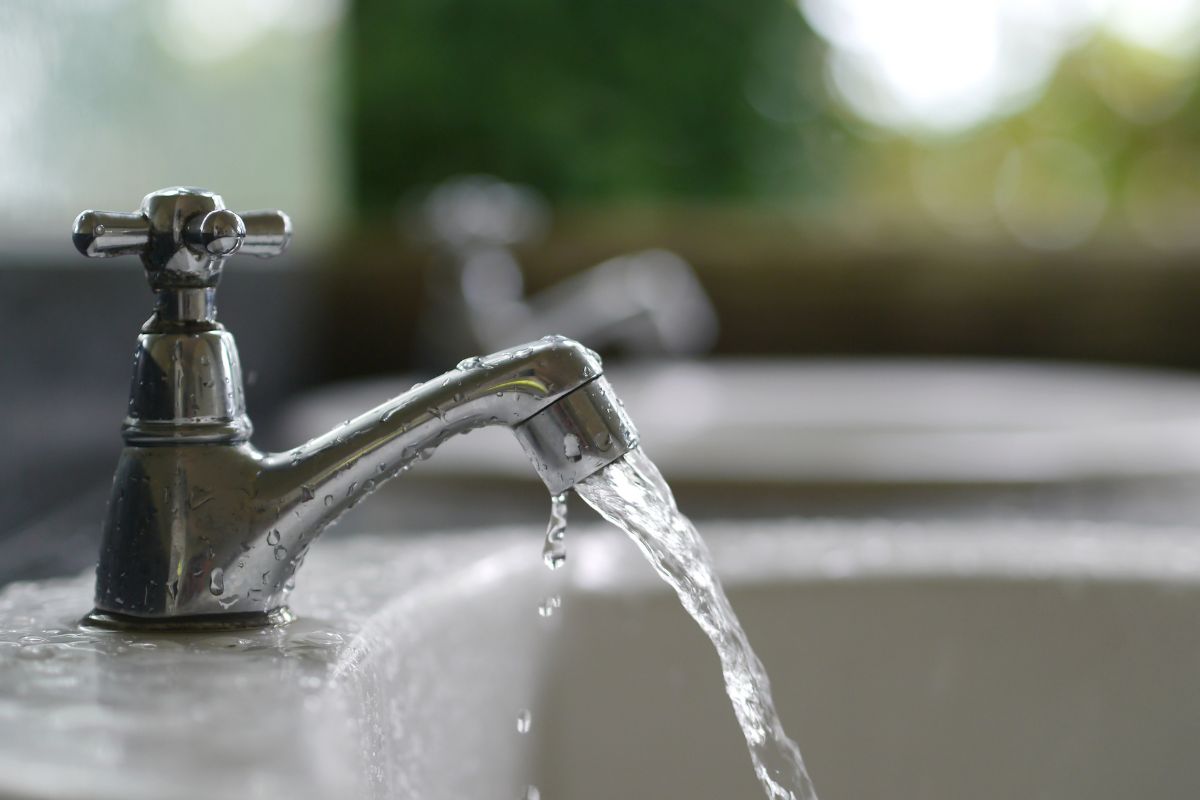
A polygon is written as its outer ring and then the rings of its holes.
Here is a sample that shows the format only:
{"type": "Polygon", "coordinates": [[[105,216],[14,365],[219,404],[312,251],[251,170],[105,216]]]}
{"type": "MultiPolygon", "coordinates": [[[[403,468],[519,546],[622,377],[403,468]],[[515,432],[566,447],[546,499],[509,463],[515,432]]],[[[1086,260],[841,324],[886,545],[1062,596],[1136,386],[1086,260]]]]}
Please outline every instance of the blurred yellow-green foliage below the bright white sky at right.
{"type": "Polygon", "coordinates": [[[828,213],[872,221],[878,233],[854,230],[859,240],[950,234],[971,245],[1196,253],[1198,142],[1200,54],[1170,58],[1100,31],[1009,115],[860,146],[842,168],[845,201],[828,213]]]}

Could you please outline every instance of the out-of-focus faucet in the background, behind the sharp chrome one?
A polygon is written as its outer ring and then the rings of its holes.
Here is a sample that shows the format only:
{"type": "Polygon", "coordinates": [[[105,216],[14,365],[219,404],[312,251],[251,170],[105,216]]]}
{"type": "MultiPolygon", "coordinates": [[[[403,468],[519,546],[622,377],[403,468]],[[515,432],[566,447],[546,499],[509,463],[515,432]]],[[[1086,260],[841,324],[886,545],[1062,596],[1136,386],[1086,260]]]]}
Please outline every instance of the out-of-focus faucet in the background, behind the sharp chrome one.
{"type": "Polygon", "coordinates": [[[695,271],[666,249],[611,258],[527,296],[515,247],[550,227],[547,204],[527,186],[451,179],[425,199],[418,225],[437,248],[418,336],[427,362],[546,331],[641,355],[698,355],[716,339],[716,313],[695,271]]]}

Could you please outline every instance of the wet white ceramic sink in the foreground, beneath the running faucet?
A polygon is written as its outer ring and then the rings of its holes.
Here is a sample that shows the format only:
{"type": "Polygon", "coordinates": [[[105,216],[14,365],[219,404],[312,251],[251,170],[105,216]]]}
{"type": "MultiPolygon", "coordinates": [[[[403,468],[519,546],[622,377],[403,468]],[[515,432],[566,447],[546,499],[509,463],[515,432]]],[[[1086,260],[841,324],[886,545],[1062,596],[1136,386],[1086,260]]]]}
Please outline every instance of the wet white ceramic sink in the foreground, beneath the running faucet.
{"type": "MultiPolygon", "coordinates": [[[[822,796],[1200,796],[1193,534],[704,534],[822,796]]],[[[0,796],[760,796],[707,640],[620,534],[569,536],[554,573],[530,530],[332,537],[282,631],[86,632],[86,576],[10,587],[0,796]]]]}

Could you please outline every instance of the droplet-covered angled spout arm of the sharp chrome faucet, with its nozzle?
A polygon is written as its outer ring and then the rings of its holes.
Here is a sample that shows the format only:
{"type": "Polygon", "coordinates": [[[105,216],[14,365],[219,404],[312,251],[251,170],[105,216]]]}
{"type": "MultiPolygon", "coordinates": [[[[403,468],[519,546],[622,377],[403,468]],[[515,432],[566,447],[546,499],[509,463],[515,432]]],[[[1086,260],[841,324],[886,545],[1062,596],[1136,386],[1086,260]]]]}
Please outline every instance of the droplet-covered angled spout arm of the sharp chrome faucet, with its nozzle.
{"type": "Polygon", "coordinates": [[[263,512],[278,513],[289,529],[319,531],[450,437],[493,425],[514,429],[554,494],[636,443],[599,357],[546,337],[467,359],[329,433],[265,456],[263,512]]]}

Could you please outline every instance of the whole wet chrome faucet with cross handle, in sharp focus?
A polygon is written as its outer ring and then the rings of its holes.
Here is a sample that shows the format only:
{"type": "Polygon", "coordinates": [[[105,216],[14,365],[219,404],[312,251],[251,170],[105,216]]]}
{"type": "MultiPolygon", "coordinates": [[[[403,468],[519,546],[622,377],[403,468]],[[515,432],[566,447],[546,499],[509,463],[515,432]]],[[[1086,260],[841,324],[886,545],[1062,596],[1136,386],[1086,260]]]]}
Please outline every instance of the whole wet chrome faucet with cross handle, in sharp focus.
{"type": "Polygon", "coordinates": [[[295,572],[322,530],[456,433],[511,427],[553,494],[636,446],[599,357],[550,336],[467,359],[287,452],[258,451],[216,287],[227,258],[277,255],[290,233],[280,211],[239,215],[182,187],[132,213],[76,219],[80,253],[139,255],[157,294],[133,356],[89,622],[288,621],[295,572]]]}

